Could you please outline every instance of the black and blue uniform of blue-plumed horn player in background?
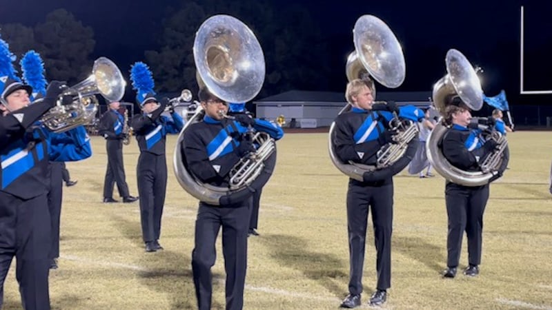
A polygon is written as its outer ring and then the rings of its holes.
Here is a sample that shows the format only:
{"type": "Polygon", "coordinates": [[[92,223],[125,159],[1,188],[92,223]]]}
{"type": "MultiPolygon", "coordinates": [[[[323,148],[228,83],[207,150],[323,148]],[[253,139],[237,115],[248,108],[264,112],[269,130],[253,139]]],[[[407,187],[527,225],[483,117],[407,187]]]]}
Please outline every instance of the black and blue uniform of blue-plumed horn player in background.
{"type": "Polygon", "coordinates": [[[132,130],[140,148],[136,170],[142,237],[146,245],[157,242],[161,234],[167,187],[166,134],[176,134],[184,127],[181,116],[174,111],[171,112],[172,120],[161,116],[164,109],[165,105],[161,104],[149,115],[135,115],[132,118],[132,130]]]}

